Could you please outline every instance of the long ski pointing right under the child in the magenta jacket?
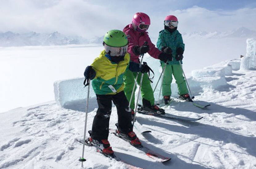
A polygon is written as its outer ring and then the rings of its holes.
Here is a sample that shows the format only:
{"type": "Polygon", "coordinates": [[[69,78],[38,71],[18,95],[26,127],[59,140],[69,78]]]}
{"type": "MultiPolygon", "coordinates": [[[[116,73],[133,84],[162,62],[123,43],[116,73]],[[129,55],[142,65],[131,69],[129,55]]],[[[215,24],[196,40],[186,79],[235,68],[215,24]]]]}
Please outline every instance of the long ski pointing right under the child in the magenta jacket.
{"type": "Polygon", "coordinates": [[[203,118],[203,117],[190,118],[190,117],[184,117],[184,116],[176,116],[176,115],[167,114],[167,113],[165,113],[165,114],[156,114],[154,112],[145,111],[145,110],[143,110],[142,107],[138,108],[138,113],[151,115],[151,116],[157,116],[157,117],[163,117],[163,118],[166,118],[166,119],[183,120],[183,121],[197,121],[197,120],[200,120],[200,119],[203,118]]]}

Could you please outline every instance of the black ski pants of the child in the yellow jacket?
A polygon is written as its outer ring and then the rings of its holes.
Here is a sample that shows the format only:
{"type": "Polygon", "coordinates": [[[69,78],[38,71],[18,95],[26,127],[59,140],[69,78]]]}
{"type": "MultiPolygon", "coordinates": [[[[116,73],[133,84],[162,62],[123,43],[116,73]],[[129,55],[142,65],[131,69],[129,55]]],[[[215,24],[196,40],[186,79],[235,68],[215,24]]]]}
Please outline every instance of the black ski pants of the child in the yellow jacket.
{"type": "Polygon", "coordinates": [[[132,131],[131,112],[129,111],[129,102],[126,99],[124,91],[115,95],[98,95],[98,110],[93,120],[92,139],[107,140],[109,136],[109,119],[112,108],[112,100],[117,107],[118,129],[122,133],[132,131]]]}

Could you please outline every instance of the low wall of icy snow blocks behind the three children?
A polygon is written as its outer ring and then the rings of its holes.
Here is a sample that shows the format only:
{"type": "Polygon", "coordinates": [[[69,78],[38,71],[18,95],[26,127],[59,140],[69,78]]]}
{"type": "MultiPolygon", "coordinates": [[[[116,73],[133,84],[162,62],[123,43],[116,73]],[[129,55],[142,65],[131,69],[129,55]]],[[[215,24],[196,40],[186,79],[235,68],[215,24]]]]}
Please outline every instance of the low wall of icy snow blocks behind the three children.
{"type": "MultiPolygon", "coordinates": [[[[159,76],[162,72],[162,68],[159,64],[152,64],[150,62],[151,57],[145,55],[143,61],[147,61],[151,69],[155,71],[155,77],[152,83],[152,88],[155,88],[155,85],[159,79],[159,76]],[[158,71],[157,71],[158,70],[158,71]]],[[[232,70],[236,70],[240,65],[240,59],[233,59],[229,61],[221,62],[220,64],[213,65],[211,67],[205,67],[204,69],[192,71],[192,77],[188,77],[188,84],[191,88],[192,95],[198,96],[203,90],[210,89],[221,89],[230,87],[226,81],[226,76],[231,76],[232,70]]],[[[151,74],[151,77],[153,75],[151,74]]],[[[54,94],[56,103],[63,108],[69,108],[72,110],[83,111],[85,109],[85,102],[87,97],[87,90],[85,90],[83,85],[84,78],[75,78],[56,81],[54,83],[54,94]]],[[[159,90],[160,90],[161,81],[154,92],[155,102],[158,102],[159,90]]],[[[138,89],[138,86],[137,86],[138,89]]],[[[178,88],[174,81],[171,85],[172,96],[177,97],[178,88]]],[[[138,94],[138,90],[135,92],[138,94]]],[[[162,97],[160,97],[160,100],[162,97]]],[[[90,88],[90,103],[94,103],[93,100],[96,100],[95,93],[90,88]]],[[[141,99],[139,100],[139,103],[141,99]]],[[[89,110],[97,108],[97,104],[90,104],[89,110]]]]}

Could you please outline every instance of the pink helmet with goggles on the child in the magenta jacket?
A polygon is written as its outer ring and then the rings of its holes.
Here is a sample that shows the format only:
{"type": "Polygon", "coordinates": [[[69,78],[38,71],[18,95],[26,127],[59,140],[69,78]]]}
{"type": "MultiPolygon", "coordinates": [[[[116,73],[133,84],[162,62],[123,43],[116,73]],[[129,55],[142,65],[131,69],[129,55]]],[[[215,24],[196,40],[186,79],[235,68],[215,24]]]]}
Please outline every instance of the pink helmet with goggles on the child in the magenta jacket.
{"type": "Polygon", "coordinates": [[[135,30],[145,32],[149,28],[150,18],[145,13],[137,12],[132,18],[132,25],[135,30]]]}

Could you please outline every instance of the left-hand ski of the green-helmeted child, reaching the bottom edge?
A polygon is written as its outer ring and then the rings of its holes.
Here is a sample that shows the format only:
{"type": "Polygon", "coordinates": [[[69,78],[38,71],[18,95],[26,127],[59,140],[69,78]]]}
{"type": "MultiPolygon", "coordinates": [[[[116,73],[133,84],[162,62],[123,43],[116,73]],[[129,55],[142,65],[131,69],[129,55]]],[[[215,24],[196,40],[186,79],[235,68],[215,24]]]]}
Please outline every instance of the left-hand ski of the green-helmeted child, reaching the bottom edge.
{"type": "MultiPolygon", "coordinates": [[[[77,140],[77,139],[76,139],[76,141],[79,142],[79,143],[81,143],[81,144],[83,144],[83,141],[81,141],[81,140],[77,140]]],[[[88,139],[85,140],[85,145],[86,145],[86,146],[89,146],[89,147],[95,147],[97,152],[101,153],[101,154],[104,155],[105,157],[108,157],[109,159],[114,159],[114,160],[116,160],[116,161],[120,161],[120,162],[125,163],[126,168],[128,168],[128,169],[142,169],[142,168],[140,168],[140,167],[135,167],[135,166],[133,166],[133,165],[130,165],[130,164],[126,163],[126,162],[123,161],[121,158],[117,157],[115,154],[108,155],[108,154],[103,153],[100,148],[98,148],[97,146],[93,145],[88,139]]]]}

